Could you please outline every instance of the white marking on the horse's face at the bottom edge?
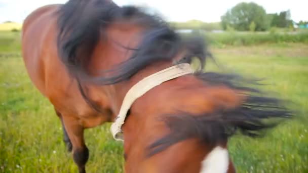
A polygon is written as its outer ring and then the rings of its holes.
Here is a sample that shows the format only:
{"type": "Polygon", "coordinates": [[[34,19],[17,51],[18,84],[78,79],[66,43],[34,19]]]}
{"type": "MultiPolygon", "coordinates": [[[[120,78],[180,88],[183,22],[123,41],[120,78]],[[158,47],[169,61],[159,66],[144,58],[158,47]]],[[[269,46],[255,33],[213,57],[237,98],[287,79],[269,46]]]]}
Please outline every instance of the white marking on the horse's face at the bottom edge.
{"type": "Polygon", "coordinates": [[[217,146],[201,162],[200,173],[225,173],[228,165],[228,151],[217,146]]]}

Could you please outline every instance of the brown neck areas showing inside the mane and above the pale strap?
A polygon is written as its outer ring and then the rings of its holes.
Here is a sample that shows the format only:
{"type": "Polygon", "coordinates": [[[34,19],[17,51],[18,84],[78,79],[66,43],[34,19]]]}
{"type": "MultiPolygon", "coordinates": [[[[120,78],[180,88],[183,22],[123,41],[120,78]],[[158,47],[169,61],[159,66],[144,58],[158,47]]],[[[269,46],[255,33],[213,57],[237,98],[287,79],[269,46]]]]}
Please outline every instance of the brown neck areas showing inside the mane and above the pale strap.
{"type": "MultiPolygon", "coordinates": [[[[107,29],[107,37],[102,37],[98,41],[96,48],[93,51],[88,70],[91,75],[102,75],[101,72],[113,69],[120,63],[128,60],[133,50],[125,48],[138,47],[138,33],[140,28],[129,27],[126,25],[113,25],[107,29]]],[[[153,74],[159,70],[167,68],[171,63],[155,63],[149,65],[146,69],[138,71],[137,74],[131,77],[128,81],[123,81],[114,85],[93,86],[89,93],[91,97],[100,102],[100,98],[104,99],[104,103],[110,105],[112,111],[117,114],[121,108],[122,101],[129,89],[140,81],[142,78],[153,74]],[[108,102],[108,103],[107,103],[108,102]]],[[[104,73],[104,77],[110,77],[113,74],[104,73]]]]}

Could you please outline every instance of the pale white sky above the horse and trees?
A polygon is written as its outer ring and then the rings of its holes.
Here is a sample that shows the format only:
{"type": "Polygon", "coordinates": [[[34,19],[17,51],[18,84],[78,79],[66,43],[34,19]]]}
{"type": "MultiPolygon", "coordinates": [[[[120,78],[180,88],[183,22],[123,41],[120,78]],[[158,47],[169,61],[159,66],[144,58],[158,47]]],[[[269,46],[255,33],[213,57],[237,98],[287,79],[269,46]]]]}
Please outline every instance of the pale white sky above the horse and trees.
{"type": "MultiPolygon", "coordinates": [[[[48,4],[63,4],[67,0],[0,0],[0,23],[14,21],[22,23],[25,17],[38,7],[48,4]]],[[[219,22],[220,17],[241,2],[254,2],[261,5],[266,13],[279,13],[290,10],[295,22],[308,21],[308,1],[306,0],[113,0],[119,6],[139,5],[150,7],[168,21],[201,20],[219,22]]]]}

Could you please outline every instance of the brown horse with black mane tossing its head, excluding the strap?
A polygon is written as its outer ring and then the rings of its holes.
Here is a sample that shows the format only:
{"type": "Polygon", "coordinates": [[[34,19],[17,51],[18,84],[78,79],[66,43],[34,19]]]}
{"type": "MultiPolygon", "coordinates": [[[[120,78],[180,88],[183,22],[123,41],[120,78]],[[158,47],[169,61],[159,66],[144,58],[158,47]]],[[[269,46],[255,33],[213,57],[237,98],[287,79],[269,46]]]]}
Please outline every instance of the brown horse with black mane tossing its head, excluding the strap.
{"type": "Polygon", "coordinates": [[[291,117],[279,100],[246,86],[253,81],[202,72],[211,54],[201,37],[181,36],[156,15],[107,0],[37,9],[24,21],[22,53],[80,172],[89,157],[84,129],[113,121],[140,80],[194,57],[200,71],[165,81],[131,105],[122,126],[126,172],[235,172],[230,136],[238,129],[258,136],[275,125],[263,120],[291,117]]]}

